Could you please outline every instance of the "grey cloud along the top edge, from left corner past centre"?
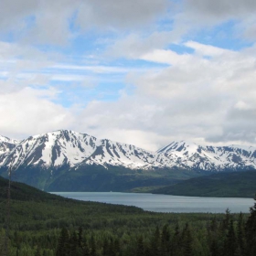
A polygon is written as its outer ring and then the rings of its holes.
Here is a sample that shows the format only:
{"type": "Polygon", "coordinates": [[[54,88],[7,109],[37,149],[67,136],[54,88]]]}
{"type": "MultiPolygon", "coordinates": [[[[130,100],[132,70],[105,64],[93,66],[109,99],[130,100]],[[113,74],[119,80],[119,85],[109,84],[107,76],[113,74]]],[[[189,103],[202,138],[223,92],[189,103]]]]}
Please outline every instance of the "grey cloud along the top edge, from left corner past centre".
{"type": "Polygon", "coordinates": [[[0,31],[11,29],[34,44],[63,45],[75,36],[70,24],[82,29],[137,28],[155,21],[167,6],[167,0],[3,0],[0,31]]]}

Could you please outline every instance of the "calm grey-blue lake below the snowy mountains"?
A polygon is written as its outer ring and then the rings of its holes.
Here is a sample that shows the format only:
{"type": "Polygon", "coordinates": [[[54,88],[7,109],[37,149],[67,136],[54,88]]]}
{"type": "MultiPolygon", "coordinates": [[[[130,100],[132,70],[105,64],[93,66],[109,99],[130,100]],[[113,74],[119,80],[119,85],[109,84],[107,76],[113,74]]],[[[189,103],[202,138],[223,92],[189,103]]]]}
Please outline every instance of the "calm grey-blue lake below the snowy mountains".
{"type": "Polygon", "coordinates": [[[62,197],[83,201],[135,206],[157,212],[249,212],[254,200],[228,197],[180,197],[120,192],[54,192],[62,197]]]}

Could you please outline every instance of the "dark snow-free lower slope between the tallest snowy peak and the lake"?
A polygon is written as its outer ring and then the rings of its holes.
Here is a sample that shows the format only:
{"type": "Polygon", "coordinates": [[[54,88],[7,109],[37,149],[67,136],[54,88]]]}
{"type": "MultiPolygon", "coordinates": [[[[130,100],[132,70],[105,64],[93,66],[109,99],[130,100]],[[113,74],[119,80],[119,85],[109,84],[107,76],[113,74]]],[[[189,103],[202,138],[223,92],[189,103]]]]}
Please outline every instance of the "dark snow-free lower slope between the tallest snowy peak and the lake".
{"type": "MultiPolygon", "coordinates": [[[[13,179],[45,191],[131,191],[140,187],[161,187],[193,177],[204,172],[155,169],[131,170],[122,166],[79,165],[70,168],[46,169],[25,165],[13,173],[13,179]]],[[[7,177],[7,168],[0,167],[0,176],[7,177]]]]}

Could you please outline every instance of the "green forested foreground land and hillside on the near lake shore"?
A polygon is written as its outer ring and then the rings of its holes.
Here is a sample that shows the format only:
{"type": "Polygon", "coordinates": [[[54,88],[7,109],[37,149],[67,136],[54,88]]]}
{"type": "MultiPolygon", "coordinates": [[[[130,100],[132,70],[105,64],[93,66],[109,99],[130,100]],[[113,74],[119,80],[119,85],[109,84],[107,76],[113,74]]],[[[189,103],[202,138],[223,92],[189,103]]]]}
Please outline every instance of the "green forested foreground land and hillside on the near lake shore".
{"type": "MultiPolygon", "coordinates": [[[[0,179],[0,246],[5,251],[7,181],[0,179]]],[[[9,256],[255,255],[251,216],[153,213],[135,207],[82,202],[27,185],[11,189],[9,256]],[[249,219],[248,219],[249,217],[249,219]]],[[[4,254],[5,255],[5,254],[4,254]]]]}

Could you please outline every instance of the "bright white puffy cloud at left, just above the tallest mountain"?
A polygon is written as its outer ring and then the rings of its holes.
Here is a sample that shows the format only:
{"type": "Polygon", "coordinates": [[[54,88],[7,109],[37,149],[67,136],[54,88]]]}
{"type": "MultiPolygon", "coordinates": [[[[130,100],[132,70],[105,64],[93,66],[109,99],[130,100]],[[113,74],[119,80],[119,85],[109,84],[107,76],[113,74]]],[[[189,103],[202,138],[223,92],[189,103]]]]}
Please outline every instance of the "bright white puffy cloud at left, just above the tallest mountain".
{"type": "Polygon", "coordinates": [[[24,88],[0,94],[0,133],[16,138],[68,127],[73,117],[70,111],[53,103],[57,91],[36,91],[24,88]]]}

